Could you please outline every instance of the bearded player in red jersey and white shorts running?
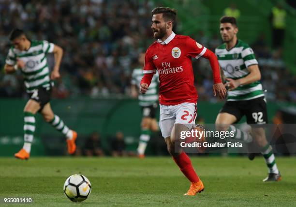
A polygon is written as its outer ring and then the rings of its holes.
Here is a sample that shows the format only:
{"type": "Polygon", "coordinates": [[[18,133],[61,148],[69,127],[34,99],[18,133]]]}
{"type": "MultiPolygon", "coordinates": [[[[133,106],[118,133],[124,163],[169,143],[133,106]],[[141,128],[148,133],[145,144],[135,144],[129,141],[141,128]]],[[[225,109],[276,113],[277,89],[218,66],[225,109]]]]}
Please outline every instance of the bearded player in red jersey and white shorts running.
{"type": "MultiPolygon", "coordinates": [[[[207,58],[214,77],[213,93],[220,98],[226,89],[220,78],[219,63],[215,54],[189,36],[173,32],[177,11],[157,7],[152,10],[152,30],[155,41],[146,51],[144,77],[140,92],[145,94],[156,70],[159,73],[160,129],[168,152],[191,185],[185,195],[195,195],[204,190],[204,184],[195,173],[185,152],[175,151],[174,124],[194,124],[196,118],[197,92],[193,85],[192,58],[207,58]]],[[[181,125],[183,126],[183,125],[181,125]]],[[[187,127],[185,130],[189,130],[187,127]]],[[[177,136],[176,136],[177,137],[177,136]]],[[[177,139],[177,138],[176,138],[177,139]]]]}

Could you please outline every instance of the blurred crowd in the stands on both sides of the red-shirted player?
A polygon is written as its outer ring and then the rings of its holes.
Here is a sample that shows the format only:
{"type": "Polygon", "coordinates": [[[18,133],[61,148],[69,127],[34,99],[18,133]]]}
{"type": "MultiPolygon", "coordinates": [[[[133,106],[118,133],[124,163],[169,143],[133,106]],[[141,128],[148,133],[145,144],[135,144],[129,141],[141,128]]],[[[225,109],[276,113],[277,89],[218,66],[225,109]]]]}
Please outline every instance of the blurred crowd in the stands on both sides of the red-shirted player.
{"type": "MultiPolygon", "coordinates": [[[[64,49],[54,97],[129,96],[137,56],[153,42],[153,6],[152,0],[0,0],[0,66],[10,47],[9,32],[20,28],[31,39],[48,40],[64,49]]],[[[199,32],[192,38],[212,50],[222,43],[218,34],[209,38],[199,32]]],[[[296,77],[282,62],[281,49],[269,48],[264,35],[250,45],[267,98],[296,102],[296,77]]],[[[53,66],[53,56],[48,62],[53,66]]],[[[193,61],[193,68],[200,100],[214,101],[207,60],[193,61]]],[[[0,73],[0,97],[25,96],[20,73],[0,73]]]]}

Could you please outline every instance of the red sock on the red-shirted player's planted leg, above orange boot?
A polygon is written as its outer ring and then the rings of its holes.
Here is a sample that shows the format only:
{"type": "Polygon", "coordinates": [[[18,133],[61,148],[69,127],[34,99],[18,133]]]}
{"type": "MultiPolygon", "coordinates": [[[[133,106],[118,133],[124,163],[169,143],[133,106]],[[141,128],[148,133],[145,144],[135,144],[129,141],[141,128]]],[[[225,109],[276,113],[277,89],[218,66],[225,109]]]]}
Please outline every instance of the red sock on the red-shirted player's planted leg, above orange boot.
{"type": "Polygon", "coordinates": [[[195,173],[190,158],[185,152],[182,152],[176,158],[173,157],[182,173],[190,180],[190,182],[197,183],[199,181],[198,175],[195,173]]]}

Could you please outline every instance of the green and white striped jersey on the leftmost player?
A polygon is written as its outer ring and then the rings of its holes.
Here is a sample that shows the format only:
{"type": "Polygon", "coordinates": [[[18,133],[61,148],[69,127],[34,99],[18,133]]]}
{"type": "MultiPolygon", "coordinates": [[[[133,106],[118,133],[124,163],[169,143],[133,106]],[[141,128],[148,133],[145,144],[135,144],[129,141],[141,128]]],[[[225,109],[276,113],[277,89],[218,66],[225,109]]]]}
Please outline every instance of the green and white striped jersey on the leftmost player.
{"type": "Polygon", "coordinates": [[[31,47],[20,51],[11,47],[9,49],[6,64],[15,65],[16,59],[25,62],[21,69],[28,93],[34,92],[39,86],[49,87],[51,84],[49,68],[46,60],[47,53],[53,52],[54,44],[47,41],[31,41],[31,47]]]}

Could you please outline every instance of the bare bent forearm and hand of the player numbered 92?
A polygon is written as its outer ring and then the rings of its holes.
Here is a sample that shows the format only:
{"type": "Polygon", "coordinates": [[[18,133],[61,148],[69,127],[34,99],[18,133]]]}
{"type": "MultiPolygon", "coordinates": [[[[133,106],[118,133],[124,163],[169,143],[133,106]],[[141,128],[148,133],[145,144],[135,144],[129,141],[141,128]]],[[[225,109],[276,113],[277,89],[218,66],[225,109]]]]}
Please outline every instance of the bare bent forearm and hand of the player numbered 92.
{"type": "Polygon", "coordinates": [[[258,64],[250,65],[248,67],[248,70],[250,71],[250,74],[248,76],[237,80],[226,78],[227,82],[224,85],[227,85],[229,87],[229,90],[234,90],[240,85],[246,85],[261,79],[261,73],[258,64]]]}

